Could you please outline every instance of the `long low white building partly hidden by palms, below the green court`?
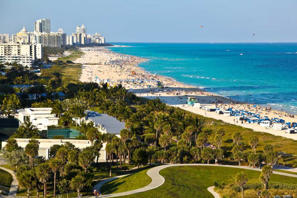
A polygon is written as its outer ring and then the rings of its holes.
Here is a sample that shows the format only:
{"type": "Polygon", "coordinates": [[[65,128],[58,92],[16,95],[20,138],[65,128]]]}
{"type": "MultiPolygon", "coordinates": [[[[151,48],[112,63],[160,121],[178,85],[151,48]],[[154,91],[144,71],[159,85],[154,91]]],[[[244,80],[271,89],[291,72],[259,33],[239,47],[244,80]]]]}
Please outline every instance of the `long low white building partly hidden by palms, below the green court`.
{"type": "MultiPolygon", "coordinates": [[[[26,148],[26,145],[29,144],[30,139],[24,139],[24,138],[15,138],[15,140],[18,143],[18,146],[22,147],[23,149],[26,148]]],[[[37,139],[39,144],[38,154],[36,156],[43,156],[45,159],[49,158],[49,150],[50,147],[57,144],[57,145],[64,145],[65,142],[70,142],[75,147],[79,149],[86,148],[88,146],[91,146],[91,142],[89,140],[56,140],[56,139],[37,139]]],[[[2,148],[5,147],[7,144],[7,140],[2,142],[2,148]]],[[[99,160],[106,160],[106,152],[105,152],[105,143],[102,144],[103,147],[100,150],[100,157],[99,160]]],[[[95,161],[97,158],[95,159],[95,161]]]]}

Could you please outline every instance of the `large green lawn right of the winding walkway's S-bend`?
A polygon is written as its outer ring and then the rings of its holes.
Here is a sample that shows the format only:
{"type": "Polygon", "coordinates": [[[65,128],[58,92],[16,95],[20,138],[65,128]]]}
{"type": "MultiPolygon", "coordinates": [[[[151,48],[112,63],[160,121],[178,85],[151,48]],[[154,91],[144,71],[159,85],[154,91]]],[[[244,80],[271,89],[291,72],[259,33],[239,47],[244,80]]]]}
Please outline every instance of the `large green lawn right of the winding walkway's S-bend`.
{"type": "MultiPolygon", "coordinates": [[[[122,197],[209,197],[207,191],[214,182],[233,183],[234,175],[244,171],[249,178],[248,183],[259,183],[260,171],[244,170],[230,167],[181,166],[169,167],[159,172],[165,178],[165,183],[153,190],[122,197]]],[[[272,174],[270,181],[297,184],[297,178],[272,174]]],[[[128,183],[129,181],[127,181],[128,183]]],[[[120,186],[118,186],[120,188],[120,186]]]]}

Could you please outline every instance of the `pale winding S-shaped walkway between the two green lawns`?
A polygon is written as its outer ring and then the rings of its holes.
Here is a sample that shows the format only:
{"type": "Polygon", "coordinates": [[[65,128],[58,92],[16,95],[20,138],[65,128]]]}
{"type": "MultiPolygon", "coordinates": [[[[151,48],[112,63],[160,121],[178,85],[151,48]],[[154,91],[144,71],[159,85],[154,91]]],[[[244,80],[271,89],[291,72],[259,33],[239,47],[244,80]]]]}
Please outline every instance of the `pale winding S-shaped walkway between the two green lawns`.
{"type": "MultiPolygon", "coordinates": [[[[166,164],[166,165],[162,165],[162,166],[153,167],[153,168],[149,169],[146,173],[152,179],[152,181],[149,185],[144,186],[143,188],[140,188],[140,189],[135,189],[135,190],[121,192],[121,193],[115,193],[115,194],[100,195],[99,197],[118,197],[118,196],[135,194],[135,193],[140,193],[140,192],[155,189],[155,188],[161,186],[165,182],[165,179],[159,174],[159,171],[164,168],[172,167],[172,166],[216,166],[216,165],[215,164],[166,164]]],[[[245,166],[231,166],[231,165],[219,165],[219,166],[220,167],[232,167],[232,168],[241,168],[241,169],[262,171],[262,169],[259,169],[259,168],[250,168],[250,167],[245,167],[245,166]]],[[[273,171],[273,173],[278,174],[278,175],[285,175],[285,176],[297,178],[297,175],[293,175],[293,174],[289,174],[289,173],[275,172],[275,171],[273,171]]],[[[117,177],[114,177],[114,179],[123,177],[123,176],[126,176],[126,175],[117,176],[117,177]]],[[[113,180],[113,178],[103,180],[102,182],[98,183],[96,186],[99,188],[99,184],[101,187],[104,183],[111,181],[111,180],[113,180]]]]}

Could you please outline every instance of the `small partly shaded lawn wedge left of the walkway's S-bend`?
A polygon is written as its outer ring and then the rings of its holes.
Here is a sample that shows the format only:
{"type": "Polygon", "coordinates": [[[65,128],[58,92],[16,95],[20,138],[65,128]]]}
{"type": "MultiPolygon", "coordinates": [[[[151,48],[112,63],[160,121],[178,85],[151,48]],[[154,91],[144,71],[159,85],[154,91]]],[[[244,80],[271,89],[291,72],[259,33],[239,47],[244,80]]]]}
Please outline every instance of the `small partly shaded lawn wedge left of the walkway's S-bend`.
{"type": "Polygon", "coordinates": [[[146,174],[148,170],[142,170],[131,175],[105,183],[100,192],[102,194],[114,194],[142,188],[151,183],[151,178],[146,174]]]}

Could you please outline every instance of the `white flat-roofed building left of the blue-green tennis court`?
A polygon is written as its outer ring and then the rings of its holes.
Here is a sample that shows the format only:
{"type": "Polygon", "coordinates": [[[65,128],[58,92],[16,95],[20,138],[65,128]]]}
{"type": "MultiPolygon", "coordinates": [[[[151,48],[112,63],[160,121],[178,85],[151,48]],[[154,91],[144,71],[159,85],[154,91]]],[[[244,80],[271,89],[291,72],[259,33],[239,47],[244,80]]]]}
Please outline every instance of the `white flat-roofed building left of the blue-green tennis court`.
{"type": "Polygon", "coordinates": [[[25,108],[18,110],[16,116],[23,124],[25,121],[30,121],[34,128],[38,130],[47,130],[50,125],[58,125],[59,118],[51,113],[52,108],[25,108]]]}

